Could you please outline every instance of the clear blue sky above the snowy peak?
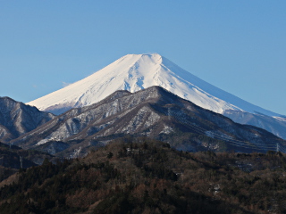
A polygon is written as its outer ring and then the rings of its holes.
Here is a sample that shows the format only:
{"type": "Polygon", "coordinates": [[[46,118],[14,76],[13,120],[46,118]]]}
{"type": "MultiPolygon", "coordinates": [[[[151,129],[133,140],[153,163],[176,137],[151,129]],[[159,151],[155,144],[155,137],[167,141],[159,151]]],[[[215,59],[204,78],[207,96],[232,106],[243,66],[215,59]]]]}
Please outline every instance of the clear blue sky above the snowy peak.
{"type": "Polygon", "coordinates": [[[0,96],[27,103],[128,53],[286,115],[285,0],[0,1],[0,96]]]}

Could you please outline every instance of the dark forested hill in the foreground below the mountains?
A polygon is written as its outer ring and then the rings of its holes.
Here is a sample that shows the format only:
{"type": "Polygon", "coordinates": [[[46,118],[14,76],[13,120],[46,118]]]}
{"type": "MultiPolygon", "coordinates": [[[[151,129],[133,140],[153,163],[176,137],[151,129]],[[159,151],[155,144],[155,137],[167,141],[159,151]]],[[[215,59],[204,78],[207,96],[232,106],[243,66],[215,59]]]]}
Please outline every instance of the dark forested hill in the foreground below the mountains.
{"type": "Polygon", "coordinates": [[[0,213],[286,213],[281,152],[181,152],[120,139],[0,183],[0,213]]]}

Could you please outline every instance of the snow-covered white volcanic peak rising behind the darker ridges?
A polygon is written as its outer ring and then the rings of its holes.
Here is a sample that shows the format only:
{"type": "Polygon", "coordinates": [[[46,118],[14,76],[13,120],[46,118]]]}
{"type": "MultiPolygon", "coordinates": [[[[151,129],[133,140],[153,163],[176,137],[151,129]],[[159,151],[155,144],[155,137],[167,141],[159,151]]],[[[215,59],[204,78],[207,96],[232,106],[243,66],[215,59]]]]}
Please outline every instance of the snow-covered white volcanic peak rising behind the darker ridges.
{"type": "Polygon", "coordinates": [[[207,110],[227,115],[236,122],[265,128],[276,136],[286,138],[284,116],[208,84],[158,53],[127,54],[87,78],[28,104],[41,111],[61,114],[71,108],[97,103],[117,90],[134,93],[149,86],[162,86],[207,110]]]}

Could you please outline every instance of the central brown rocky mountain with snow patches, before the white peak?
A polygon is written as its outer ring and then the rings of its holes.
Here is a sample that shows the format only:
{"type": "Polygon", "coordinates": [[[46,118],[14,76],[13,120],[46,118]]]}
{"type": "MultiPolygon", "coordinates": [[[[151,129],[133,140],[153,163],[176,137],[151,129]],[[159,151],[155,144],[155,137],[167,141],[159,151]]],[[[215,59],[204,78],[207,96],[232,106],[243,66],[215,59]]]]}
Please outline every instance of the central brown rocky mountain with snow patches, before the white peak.
{"type": "Polygon", "coordinates": [[[235,123],[160,86],[133,94],[116,91],[101,102],[66,111],[12,143],[75,157],[121,136],[149,136],[194,152],[266,152],[286,145],[264,129],[235,123]]]}

